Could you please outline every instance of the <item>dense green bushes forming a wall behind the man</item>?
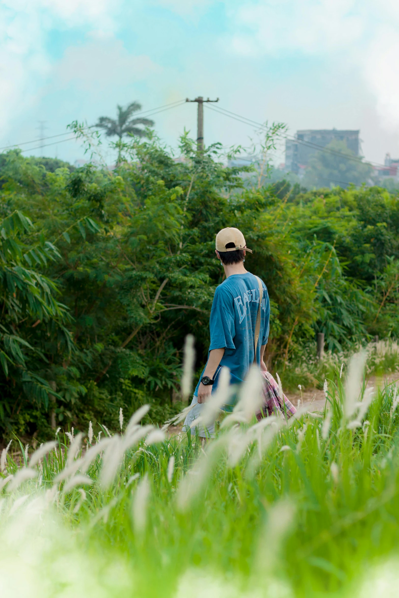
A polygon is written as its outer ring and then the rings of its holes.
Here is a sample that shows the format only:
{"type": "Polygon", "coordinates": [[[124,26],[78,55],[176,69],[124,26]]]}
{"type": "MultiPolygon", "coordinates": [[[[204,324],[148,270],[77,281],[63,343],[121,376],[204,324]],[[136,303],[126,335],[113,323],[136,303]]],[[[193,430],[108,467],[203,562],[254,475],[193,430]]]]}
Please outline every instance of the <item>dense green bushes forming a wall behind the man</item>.
{"type": "Polygon", "coordinates": [[[245,265],[269,289],[269,367],[300,359],[318,331],[333,352],[398,338],[397,196],[252,189],[218,146],[198,153],[183,136],[181,152],[133,140],[114,171],[73,172],[2,155],[2,242],[13,245],[1,255],[3,433],[45,436],[89,419],[115,427],[120,406],[129,414],[143,401],[156,419],[175,412],[187,332],[197,370],[206,359],[225,226],[243,231],[254,249],[245,265]],[[35,280],[13,286],[7,272],[22,268],[35,280]]]}

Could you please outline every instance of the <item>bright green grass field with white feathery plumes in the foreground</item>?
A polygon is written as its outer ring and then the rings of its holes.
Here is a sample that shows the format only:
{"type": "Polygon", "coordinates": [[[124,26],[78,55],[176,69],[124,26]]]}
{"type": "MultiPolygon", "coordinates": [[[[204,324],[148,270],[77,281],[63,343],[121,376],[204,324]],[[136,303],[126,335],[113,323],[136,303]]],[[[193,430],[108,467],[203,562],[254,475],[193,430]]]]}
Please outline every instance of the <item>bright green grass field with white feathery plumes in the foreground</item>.
{"type": "Polygon", "coordinates": [[[141,426],[145,408],[123,434],[59,431],[19,459],[14,441],[0,595],[397,596],[399,397],[365,390],[363,365],[288,422],[257,423],[247,386],[205,447],[141,426]]]}

